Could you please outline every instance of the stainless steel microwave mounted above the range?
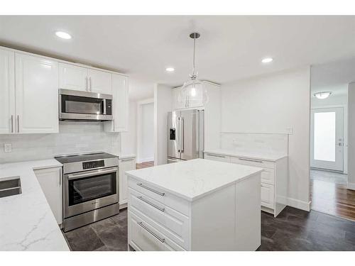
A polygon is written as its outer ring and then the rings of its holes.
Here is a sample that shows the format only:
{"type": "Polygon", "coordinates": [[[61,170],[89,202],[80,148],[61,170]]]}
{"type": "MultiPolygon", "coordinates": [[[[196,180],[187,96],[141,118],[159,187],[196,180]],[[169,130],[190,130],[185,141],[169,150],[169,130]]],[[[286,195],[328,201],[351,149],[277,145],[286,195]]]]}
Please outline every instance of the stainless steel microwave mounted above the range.
{"type": "Polygon", "coordinates": [[[59,89],[60,121],[112,120],[112,95],[59,89]]]}

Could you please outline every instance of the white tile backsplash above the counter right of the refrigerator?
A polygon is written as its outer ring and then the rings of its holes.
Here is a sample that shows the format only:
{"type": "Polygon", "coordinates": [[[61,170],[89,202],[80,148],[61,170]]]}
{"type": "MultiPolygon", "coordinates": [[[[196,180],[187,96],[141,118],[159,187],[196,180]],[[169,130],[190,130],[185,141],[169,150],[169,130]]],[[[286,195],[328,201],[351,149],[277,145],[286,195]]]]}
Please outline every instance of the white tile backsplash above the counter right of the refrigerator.
{"type": "Polygon", "coordinates": [[[288,154],[288,135],[221,133],[221,148],[234,151],[288,154]]]}

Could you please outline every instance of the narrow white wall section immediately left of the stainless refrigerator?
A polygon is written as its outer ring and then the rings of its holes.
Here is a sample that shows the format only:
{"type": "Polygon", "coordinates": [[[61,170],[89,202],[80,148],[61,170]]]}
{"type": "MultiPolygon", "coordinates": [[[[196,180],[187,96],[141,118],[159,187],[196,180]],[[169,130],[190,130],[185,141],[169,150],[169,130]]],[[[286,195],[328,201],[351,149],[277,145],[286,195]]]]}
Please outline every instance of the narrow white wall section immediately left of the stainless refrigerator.
{"type": "Polygon", "coordinates": [[[155,84],[154,86],[154,165],[164,165],[168,156],[168,111],[172,109],[171,87],[155,84]]]}

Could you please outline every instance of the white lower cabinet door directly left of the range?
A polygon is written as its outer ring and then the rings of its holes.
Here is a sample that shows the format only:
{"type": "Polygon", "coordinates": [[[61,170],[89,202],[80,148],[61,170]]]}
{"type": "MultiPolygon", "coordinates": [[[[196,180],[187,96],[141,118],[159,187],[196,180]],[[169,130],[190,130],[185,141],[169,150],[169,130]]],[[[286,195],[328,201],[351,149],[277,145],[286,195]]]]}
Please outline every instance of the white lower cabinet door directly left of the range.
{"type": "Polygon", "coordinates": [[[40,187],[58,224],[62,223],[62,168],[35,170],[40,187]]]}

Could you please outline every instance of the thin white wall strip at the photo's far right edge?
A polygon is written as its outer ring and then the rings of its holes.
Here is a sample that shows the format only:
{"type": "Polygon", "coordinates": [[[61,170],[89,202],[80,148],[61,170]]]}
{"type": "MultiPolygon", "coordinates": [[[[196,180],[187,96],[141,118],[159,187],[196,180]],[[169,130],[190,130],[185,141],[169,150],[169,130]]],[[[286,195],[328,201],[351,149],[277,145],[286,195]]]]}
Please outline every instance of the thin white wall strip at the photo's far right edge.
{"type": "Polygon", "coordinates": [[[348,90],[348,189],[355,190],[355,83],[348,90]]]}

